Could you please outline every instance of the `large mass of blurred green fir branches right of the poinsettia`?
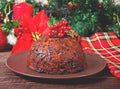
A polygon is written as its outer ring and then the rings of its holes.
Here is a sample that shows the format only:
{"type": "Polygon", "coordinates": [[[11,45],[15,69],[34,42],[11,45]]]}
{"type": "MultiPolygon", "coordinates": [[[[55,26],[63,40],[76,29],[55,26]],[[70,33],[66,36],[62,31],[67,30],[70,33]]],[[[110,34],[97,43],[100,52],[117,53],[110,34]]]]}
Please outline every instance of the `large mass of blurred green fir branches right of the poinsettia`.
{"type": "Polygon", "coordinates": [[[81,36],[113,31],[120,37],[120,5],[115,5],[113,0],[49,0],[45,10],[58,20],[67,19],[81,36]],[[69,2],[77,7],[71,9],[69,2]]]}

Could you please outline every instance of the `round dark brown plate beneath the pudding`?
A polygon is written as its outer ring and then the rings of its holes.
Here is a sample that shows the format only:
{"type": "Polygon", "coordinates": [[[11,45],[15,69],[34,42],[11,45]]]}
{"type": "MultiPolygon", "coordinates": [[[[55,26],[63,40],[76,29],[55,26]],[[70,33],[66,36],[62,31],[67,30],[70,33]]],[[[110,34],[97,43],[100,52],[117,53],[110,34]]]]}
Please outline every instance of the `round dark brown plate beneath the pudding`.
{"type": "Polygon", "coordinates": [[[72,73],[72,74],[37,73],[36,71],[29,69],[27,66],[27,62],[26,62],[27,53],[28,51],[24,51],[10,56],[6,61],[7,67],[18,74],[22,74],[29,77],[47,78],[47,79],[72,79],[72,78],[80,78],[80,77],[86,77],[97,74],[100,71],[102,71],[106,66],[104,60],[101,59],[98,55],[85,52],[88,67],[81,72],[72,73]]]}

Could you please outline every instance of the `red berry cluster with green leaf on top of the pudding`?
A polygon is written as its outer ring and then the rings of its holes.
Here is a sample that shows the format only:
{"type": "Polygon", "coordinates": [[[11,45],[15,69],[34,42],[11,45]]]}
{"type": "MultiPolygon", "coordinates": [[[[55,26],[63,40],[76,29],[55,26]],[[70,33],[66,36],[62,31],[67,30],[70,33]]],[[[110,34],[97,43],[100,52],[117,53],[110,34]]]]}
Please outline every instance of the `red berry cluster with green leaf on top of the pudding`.
{"type": "Polygon", "coordinates": [[[48,25],[50,29],[48,36],[53,38],[67,37],[72,29],[67,20],[58,21],[54,17],[49,20],[48,25]]]}

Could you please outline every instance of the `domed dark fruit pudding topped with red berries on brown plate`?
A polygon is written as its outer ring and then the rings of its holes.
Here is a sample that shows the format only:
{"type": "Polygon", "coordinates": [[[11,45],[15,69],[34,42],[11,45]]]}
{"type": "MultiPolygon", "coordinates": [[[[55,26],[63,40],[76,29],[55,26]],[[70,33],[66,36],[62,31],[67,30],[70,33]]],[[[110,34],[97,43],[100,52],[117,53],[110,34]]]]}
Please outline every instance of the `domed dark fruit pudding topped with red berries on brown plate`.
{"type": "Polygon", "coordinates": [[[66,21],[62,23],[64,28],[52,25],[48,35],[41,36],[33,43],[27,56],[29,68],[49,74],[75,73],[85,69],[87,64],[79,42],[80,36],[70,30],[66,21]],[[71,36],[68,35],[69,31],[71,36]]]}

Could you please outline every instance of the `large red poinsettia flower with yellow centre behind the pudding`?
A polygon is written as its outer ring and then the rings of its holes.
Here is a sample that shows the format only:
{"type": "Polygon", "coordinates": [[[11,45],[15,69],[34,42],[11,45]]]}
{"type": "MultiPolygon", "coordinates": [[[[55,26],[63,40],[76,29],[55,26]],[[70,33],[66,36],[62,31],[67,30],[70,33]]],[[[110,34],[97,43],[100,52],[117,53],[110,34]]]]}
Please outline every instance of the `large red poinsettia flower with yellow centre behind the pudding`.
{"type": "Polygon", "coordinates": [[[49,32],[47,24],[49,18],[45,14],[44,10],[40,11],[32,19],[28,19],[28,17],[24,18],[26,19],[23,19],[20,24],[27,28],[27,30],[22,31],[22,35],[14,45],[11,54],[29,50],[33,42],[39,39],[40,35],[44,35],[49,32]]]}

